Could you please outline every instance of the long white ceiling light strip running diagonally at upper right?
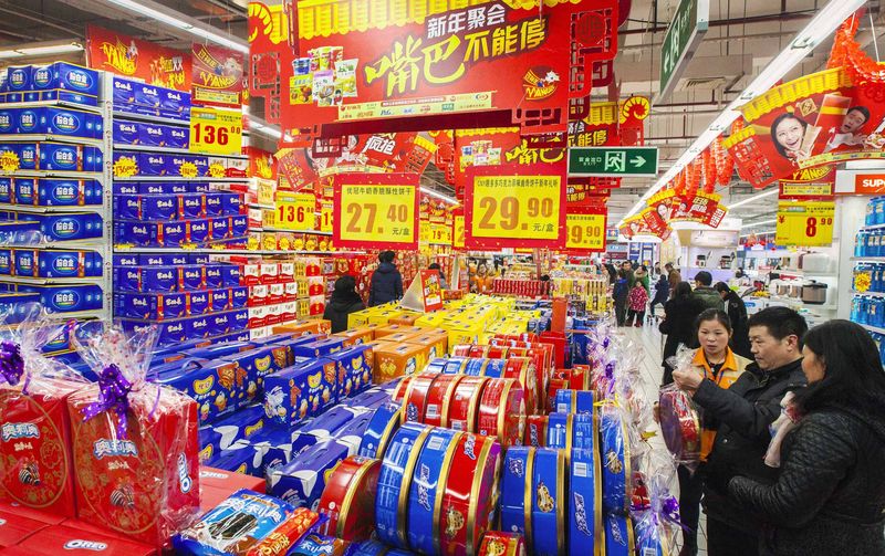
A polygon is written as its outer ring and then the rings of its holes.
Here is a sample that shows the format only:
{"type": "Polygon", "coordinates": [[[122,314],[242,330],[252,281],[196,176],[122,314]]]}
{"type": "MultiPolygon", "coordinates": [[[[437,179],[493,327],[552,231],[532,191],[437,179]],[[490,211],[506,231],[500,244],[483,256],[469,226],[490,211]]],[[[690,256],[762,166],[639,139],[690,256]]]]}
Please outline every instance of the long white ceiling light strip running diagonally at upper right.
{"type": "Polygon", "coordinates": [[[639,212],[643,204],[653,195],[663,189],[676,175],[685,168],[691,160],[700,155],[705,148],[709,147],[716,138],[728,129],[736,119],[740,117],[738,108],[757,96],[766,93],[774,86],[778,81],[787,75],[802,59],[808,56],[814,48],[835,31],[852,13],[857,11],[866,3],[866,0],[830,0],[821,11],[800,31],[790,44],[769,62],[762,72],[747,85],[747,88],[731,104],[722,111],[719,116],[701,133],[695,143],[683,153],[678,160],[662,176],[654,186],[636,201],[624,218],[618,222],[618,227],[624,224],[624,220],[639,212]]]}

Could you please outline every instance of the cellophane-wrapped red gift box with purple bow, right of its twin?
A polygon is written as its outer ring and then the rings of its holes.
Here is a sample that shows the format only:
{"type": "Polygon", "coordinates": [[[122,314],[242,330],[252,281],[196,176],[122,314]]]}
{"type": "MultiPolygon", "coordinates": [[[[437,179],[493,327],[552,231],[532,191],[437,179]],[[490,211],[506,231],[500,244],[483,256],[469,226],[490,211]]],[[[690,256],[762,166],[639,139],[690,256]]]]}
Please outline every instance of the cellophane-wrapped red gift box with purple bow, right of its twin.
{"type": "Polygon", "coordinates": [[[156,327],[75,336],[98,377],[69,400],[77,517],[162,546],[200,505],[197,405],[147,380],[156,327]]]}

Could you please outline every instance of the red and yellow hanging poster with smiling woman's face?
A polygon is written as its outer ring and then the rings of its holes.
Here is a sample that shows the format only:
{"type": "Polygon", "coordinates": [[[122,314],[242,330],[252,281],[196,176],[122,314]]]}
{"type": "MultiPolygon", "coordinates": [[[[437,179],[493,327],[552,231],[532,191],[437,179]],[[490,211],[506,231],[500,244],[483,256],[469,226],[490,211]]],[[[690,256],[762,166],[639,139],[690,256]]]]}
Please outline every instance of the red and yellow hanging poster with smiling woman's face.
{"type": "Polygon", "coordinates": [[[762,188],[796,170],[885,158],[885,104],[844,67],[784,83],[741,107],[745,126],[723,141],[741,176],[762,188]]]}

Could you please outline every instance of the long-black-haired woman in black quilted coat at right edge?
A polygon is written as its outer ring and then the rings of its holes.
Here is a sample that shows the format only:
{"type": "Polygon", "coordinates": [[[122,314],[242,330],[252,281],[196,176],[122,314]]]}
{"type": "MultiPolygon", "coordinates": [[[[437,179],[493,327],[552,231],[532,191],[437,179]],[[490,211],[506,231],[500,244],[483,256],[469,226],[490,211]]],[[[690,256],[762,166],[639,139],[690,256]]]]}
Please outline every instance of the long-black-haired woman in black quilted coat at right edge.
{"type": "Polygon", "coordinates": [[[804,337],[809,386],[784,398],[766,463],[774,484],[736,476],[729,496],[760,515],[763,555],[885,555],[885,371],[860,325],[831,321],[804,337]]]}

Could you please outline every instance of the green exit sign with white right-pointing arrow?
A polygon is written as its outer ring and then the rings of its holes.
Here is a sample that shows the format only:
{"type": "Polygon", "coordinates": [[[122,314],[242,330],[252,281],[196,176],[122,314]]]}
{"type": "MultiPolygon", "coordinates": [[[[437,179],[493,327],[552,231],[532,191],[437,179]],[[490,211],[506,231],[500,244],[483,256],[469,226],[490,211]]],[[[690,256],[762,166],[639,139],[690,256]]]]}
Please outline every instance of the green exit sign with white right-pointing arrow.
{"type": "Polygon", "coordinates": [[[657,147],[573,147],[569,149],[569,176],[657,176],[657,147]]]}

